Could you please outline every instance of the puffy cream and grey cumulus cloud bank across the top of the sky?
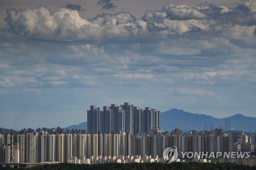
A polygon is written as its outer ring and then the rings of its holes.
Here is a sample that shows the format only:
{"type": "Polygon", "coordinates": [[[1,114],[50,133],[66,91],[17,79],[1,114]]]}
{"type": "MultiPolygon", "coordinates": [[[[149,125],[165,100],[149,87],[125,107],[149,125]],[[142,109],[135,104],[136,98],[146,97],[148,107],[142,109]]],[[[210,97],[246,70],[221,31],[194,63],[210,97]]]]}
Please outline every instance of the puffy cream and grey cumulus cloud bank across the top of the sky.
{"type": "MultiPolygon", "coordinates": [[[[100,1],[99,4],[111,4],[100,1]]],[[[80,6],[69,6],[51,13],[45,7],[25,10],[8,9],[5,21],[10,32],[30,39],[54,41],[110,42],[162,41],[169,37],[185,39],[208,39],[223,37],[240,39],[255,44],[256,14],[254,0],[241,2],[233,10],[202,4],[164,5],[156,11],[146,11],[136,19],[132,14],[119,12],[101,14],[91,19],[79,16],[80,6]],[[73,10],[76,9],[76,10],[73,10]],[[241,28],[243,31],[241,32],[241,28]]]]}

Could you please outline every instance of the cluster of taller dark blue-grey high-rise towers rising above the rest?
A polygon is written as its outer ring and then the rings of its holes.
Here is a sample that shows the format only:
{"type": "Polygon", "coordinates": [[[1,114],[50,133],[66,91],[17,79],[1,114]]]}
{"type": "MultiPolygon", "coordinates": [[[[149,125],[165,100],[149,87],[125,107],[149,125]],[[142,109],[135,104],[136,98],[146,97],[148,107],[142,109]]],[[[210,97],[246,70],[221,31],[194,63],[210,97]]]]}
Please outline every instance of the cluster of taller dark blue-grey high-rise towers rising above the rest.
{"type": "Polygon", "coordinates": [[[103,111],[91,106],[87,111],[89,133],[132,132],[133,134],[154,134],[160,129],[160,111],[146,107],[144,110],[130,103],[104,106],[103,111]]]}

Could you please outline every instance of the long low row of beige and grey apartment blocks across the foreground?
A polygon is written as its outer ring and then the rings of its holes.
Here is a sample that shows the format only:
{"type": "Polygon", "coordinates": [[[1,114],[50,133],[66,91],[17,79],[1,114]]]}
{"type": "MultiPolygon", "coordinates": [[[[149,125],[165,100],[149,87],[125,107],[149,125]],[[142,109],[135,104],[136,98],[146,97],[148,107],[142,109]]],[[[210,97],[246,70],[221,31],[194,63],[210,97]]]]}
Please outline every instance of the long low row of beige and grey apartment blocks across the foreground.
{"type": "Polygon", "coordinates": [[[243,132],[225,134],[221,129],[187,133],[176,129],[170,133],[159,132],[151,135],[132,132],[16,132],[0,134],[0,162],[10,162],[11,153],[14,163],[68,162],[74,157],[84,157],[92,163],[92,158],[100,156],[119,158],[151,155],[155,159],[156,156],[162,158],[163,150],[172,146],[177,147],[179,158],[182,156],[181,152],[241,151],[254,155],[255,144],[255,132],[247,136],[243,132]]]}

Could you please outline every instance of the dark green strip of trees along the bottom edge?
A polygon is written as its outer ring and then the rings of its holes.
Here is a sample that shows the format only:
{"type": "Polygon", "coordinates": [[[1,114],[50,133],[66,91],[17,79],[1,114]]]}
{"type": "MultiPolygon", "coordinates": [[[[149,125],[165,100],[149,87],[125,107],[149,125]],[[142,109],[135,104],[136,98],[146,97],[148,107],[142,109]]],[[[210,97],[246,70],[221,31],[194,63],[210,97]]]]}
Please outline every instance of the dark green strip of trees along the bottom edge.
{"type": "MultiPolygon", "coordinates": [[[[6,170],[10,168],[0,167],[0,170],[6,170]]],[[[256,169],[256,166],[238,165],[236,163],[198,163],[198,162],[173,162],[170,164],[163,163],[105,163],[105,164],[73,164],[73,163],[58,163],[58,164],[45,164],[37,165],[30,168],[31,170],[167,170],[167,169],[182,169],[182,170],[204,170],[204,169],[225,169],[225,170],[252,170],[256,169]]],[[[13,168],[16,170],[16,168],[13,168]]],[[[25,168],[19,168],[19,170],[25,170],[25,168]]]]}

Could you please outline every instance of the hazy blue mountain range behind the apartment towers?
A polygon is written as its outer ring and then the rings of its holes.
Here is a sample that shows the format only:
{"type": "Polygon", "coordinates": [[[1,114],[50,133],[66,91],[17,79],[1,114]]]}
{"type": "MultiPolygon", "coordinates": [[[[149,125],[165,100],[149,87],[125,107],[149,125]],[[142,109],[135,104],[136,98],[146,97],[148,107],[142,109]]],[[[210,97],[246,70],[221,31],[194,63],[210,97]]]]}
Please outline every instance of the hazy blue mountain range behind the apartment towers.
{"type": "MultiPolygon", "coordinates": [[[[256,117],[248,117],[236,114],[225,118],[216,118],[205,114],[189,113],[179,109],[171,109],[160,114],[160,128],[163,131],[172,131],[175,128],[183,132],[190,130],[211,130],[221,128],[223,130],[256,131],[256,117]],[[225,122],[229,122],[225,129],[225,122]]],[[[87,129],[87,122],[72,125],[65,129],[87,129]]]]}

